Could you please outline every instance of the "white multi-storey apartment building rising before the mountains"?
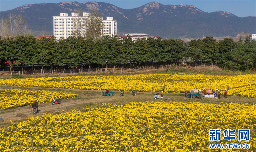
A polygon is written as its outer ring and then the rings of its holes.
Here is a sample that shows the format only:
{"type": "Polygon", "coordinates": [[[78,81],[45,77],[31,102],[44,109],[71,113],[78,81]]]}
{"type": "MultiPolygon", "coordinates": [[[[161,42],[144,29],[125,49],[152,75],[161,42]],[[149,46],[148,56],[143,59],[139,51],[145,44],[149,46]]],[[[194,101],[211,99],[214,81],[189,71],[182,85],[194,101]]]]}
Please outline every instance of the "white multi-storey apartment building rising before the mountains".
{"type": "MultiPolygon", "coordinates": [[[[81,33],[81,36],[85,36],[83,34],[87,30],[89,16],[90,13],[83,13],[83,16],[79,16],[77,13],[71,13],[71,16],[68,16],[68,13],[60,13],[60,16],[53,16],[53,35],[57,40],[61,37],[66,39],[72,33],[81,33]]],[[[113,17],[106,17],[106,20],[101,18],[101,20],[103,23],[103,36],[117,34],[117,22],[113,20],[113,17]]]]}

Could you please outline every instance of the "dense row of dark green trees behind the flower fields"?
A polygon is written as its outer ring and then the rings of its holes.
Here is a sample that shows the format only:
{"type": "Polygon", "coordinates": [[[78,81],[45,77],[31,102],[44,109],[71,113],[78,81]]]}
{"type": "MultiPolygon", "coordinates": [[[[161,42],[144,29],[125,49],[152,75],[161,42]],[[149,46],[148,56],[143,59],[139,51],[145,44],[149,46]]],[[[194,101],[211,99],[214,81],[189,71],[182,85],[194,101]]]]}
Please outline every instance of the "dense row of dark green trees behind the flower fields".
{"type": "Polygon", "coordinates": [[[256,68],[255,47],[256,42],[250,37],[239,42],[234,42],[232,38],[218,42],[209,36],[188,43],[161,37],[133,41],[131,37],[119,38],[116,35],[96,40],[69,37],[58,41],[54,37],[0,37],[0,68],[8,67],[12,71],[17,65],[23,72],[24,66],[30,66],[33,71],[35,65],[42,64],[51,69],[57,65],[65,71],[65,68],[81,66],[83,70],[84,66],[96,68],[109,64],[114,67],[179,64],[190,58],[190,62],[218,63],[225,69],[246,71],[256,68]]]}

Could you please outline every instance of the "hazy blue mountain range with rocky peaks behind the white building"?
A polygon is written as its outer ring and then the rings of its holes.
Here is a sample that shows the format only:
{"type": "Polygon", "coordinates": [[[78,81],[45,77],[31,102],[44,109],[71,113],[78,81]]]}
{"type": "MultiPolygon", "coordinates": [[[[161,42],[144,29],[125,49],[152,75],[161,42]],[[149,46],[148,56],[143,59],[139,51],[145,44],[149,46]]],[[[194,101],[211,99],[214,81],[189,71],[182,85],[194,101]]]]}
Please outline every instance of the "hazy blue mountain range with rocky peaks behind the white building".
{"type": "MultiPolygon", "coordinates": [[[[171,1],[170,1],[171,2],[171,1]]],[[[53,33],[53,16],[71,15],[75,10],[98,10],[103,19],[111,16],[117,20],[118,34],[146,33],[162,38],[201,38],[205,36],[236,37],[238,33],[256,33],[256,17],[237,17],[229,12],[206,13],[193,5],[163,5],[150,2],[134,9],[122,9],[104,2],[61,2],[27,4],[13,10],[0,12],[0,17],[21,14],[34,35],[42,34],[43,25],[53,33]]]]}

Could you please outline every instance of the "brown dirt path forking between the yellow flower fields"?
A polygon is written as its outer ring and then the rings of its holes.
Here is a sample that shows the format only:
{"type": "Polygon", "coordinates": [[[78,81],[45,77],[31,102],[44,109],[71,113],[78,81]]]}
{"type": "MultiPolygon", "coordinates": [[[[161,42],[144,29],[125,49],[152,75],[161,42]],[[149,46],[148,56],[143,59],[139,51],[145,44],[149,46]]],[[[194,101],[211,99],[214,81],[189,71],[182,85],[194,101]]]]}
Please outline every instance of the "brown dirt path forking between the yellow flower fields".
{"type": "MultiPolygon", "coordinates": [[[[155,100],[153,97],[155,92],[136,92],[137,96],[132,96],[130,91],[125,91],[124,96],[120,97],[120,91],[115,92],[114,96],[100,96],[100,90],[78,90],[78,89],[62,89],[62,88],[39,88],[39,87],[16,87],[0,85],[0,89],[27,89],[27,90],[49,90],[49,91],[66,91],[72,92],[78,95],[78,97],[63,99],[61,104],[52,105],[51,102],[38,104],[39,113],[33,115],[32,107],[24,106],[12,109],[5,109],[0,111],[0,128],[7,126],[12,122],[23,121],[29,117],[42,116],[43,113],[54,114],[56,111],[59,112],[70,112],[75,107],[78,110],[82,110],[84,107],[95,106],[101,103],[112,103],[112,104],[126,104],[129,102],[143,102],[143,101],[160,101],[155,100]],[[30,109],[29,109],[30,107],[30,109]]],[[[256,98],[246,98],[229,96],[228,98],[214,99],[214,98],[202,98],[202,99],[190,99],[185,98],[184,94],[181,93],[164,93],[163,101],[177,101],[177,102],[203,102],[203,103],[254,103],[256,98]]]]}

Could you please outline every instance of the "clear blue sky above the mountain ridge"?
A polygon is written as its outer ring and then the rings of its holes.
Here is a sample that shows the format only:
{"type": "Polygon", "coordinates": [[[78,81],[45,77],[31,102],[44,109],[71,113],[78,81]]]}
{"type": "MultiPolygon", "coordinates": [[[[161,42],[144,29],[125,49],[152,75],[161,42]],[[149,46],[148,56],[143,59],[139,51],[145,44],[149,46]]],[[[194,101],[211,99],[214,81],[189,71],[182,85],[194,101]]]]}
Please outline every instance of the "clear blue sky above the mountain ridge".
{"type": "MultiPolygon", "coordinates": [[[[0,11],[33,3],[59,3],[77,1],[84,3],[90,0],[0,0],[0,11]]],[[[226,11],[238,17],[256,16],[256,0],[95,0],[113,4],[122,9],[133,9],[146,3],[156,1],[162,4],[189,4],[204,12],[226,11]]]]}

